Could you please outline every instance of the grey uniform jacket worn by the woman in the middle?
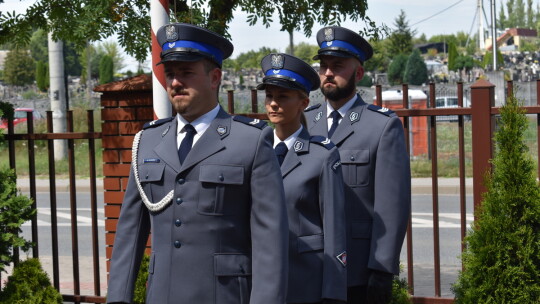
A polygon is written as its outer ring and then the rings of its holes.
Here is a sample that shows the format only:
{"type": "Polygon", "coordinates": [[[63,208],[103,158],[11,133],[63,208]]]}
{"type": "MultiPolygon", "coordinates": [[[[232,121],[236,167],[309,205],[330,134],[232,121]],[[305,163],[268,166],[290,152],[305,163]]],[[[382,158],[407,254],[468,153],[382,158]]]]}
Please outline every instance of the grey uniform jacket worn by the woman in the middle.
{"type": "Polygon", "coordinates": [[[345,196],[339,152],[304,128],[281,165],[289,217],[287,302],[347,300],[345,196]]]}

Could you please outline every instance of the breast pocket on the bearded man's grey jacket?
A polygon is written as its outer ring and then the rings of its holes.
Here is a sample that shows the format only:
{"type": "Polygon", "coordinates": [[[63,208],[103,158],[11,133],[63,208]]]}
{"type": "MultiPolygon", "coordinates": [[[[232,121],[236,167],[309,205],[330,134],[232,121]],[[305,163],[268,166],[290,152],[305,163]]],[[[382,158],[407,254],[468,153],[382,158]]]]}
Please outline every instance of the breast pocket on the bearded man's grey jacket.
{"type": "Polygon", "coordinates": [[[340,150],[339,157],[347,185],[369,185],[369,149],[340,150]]]}

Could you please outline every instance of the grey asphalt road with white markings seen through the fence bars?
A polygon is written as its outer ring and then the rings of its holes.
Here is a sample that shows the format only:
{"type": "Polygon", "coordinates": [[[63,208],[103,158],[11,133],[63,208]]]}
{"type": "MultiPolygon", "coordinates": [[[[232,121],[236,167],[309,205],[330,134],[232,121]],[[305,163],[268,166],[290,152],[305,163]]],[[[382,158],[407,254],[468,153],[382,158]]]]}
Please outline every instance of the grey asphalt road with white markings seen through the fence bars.
{"type": "MultiPolygon", "coordinates": [[[[81,261],[91,261],[92,256],[92,236],[91,236],[91,214],[90,214],[90,194],[80,192],[77,194],[77,227],[79,259],[81,261]]],[[[38,235],[39,254],[42,259],[51,256],[51,216],[50,199],[46,192],[38,192],[38,235]]],[[[433,247],[433,199],[431,195],[413,195],[412,197],[412,238],[413,238],[413,274],[415,294],[420,296],[433,296],[434,288],[434,247],[433,247]]],[[[467,222],[472,221],[472,197],[467,197],[467,222]]],[[[104,247],[104,213],[103,195],[98,193],[98,238],[101,266],[105,264],[104,247]]],[[[71,241],[71,214],[69,193],[57,193],[57,217],[58,217],[58,240],[59,255],[62,257],[72,256],[71,241]]],[[[441,264],[441,290],[442,296],[451,296],[450,286],[457,277],[461,269],[459,255],[461,252],[461,232],[460,232],[460,209],[459,196],[440,195],[439,196],[439,235],[440,235],[440,264],[441,264]]],[[[30,223],[23,227],[23,235],[31,238],[30,223]]],[[[407,248],[404,244],[401,252],[401,261],[404,266],[402,277],[407,277],[407,248]]],[[[81,267],[88,267],[91,272],[91,265],[81,262],[81,267]]],[[[81,269],[81,273],[84,270],[81,269]]]]}

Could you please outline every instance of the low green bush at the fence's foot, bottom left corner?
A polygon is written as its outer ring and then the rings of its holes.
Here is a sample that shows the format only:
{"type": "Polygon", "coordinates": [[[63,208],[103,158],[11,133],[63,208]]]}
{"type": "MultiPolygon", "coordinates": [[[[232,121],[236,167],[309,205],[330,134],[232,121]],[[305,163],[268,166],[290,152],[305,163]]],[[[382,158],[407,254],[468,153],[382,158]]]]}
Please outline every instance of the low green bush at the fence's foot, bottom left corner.
{"type": "Polygon", "coordinates": [[[62,295],[51,285],[38,259],[28,259],[13,270],[0,292],[0,304],[62,304],[62,295]]]}

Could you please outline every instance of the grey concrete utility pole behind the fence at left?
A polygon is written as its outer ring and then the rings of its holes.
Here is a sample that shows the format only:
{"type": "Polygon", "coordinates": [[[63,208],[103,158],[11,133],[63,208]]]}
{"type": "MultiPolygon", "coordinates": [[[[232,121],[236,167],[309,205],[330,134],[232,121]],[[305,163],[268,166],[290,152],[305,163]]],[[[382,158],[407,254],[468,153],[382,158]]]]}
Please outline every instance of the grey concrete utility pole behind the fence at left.
{"type": "MultiPolygon", "coordinates": [[[[64,51],[62,41],[53,40],[49,33],[49,75],[50,101],[53,112],[53,132],[66,132],[66,86],[64,81],[64,51]]],[[[66,140],[54,141],[54,159],[62,160],[67,156],[66,140]]]]}

